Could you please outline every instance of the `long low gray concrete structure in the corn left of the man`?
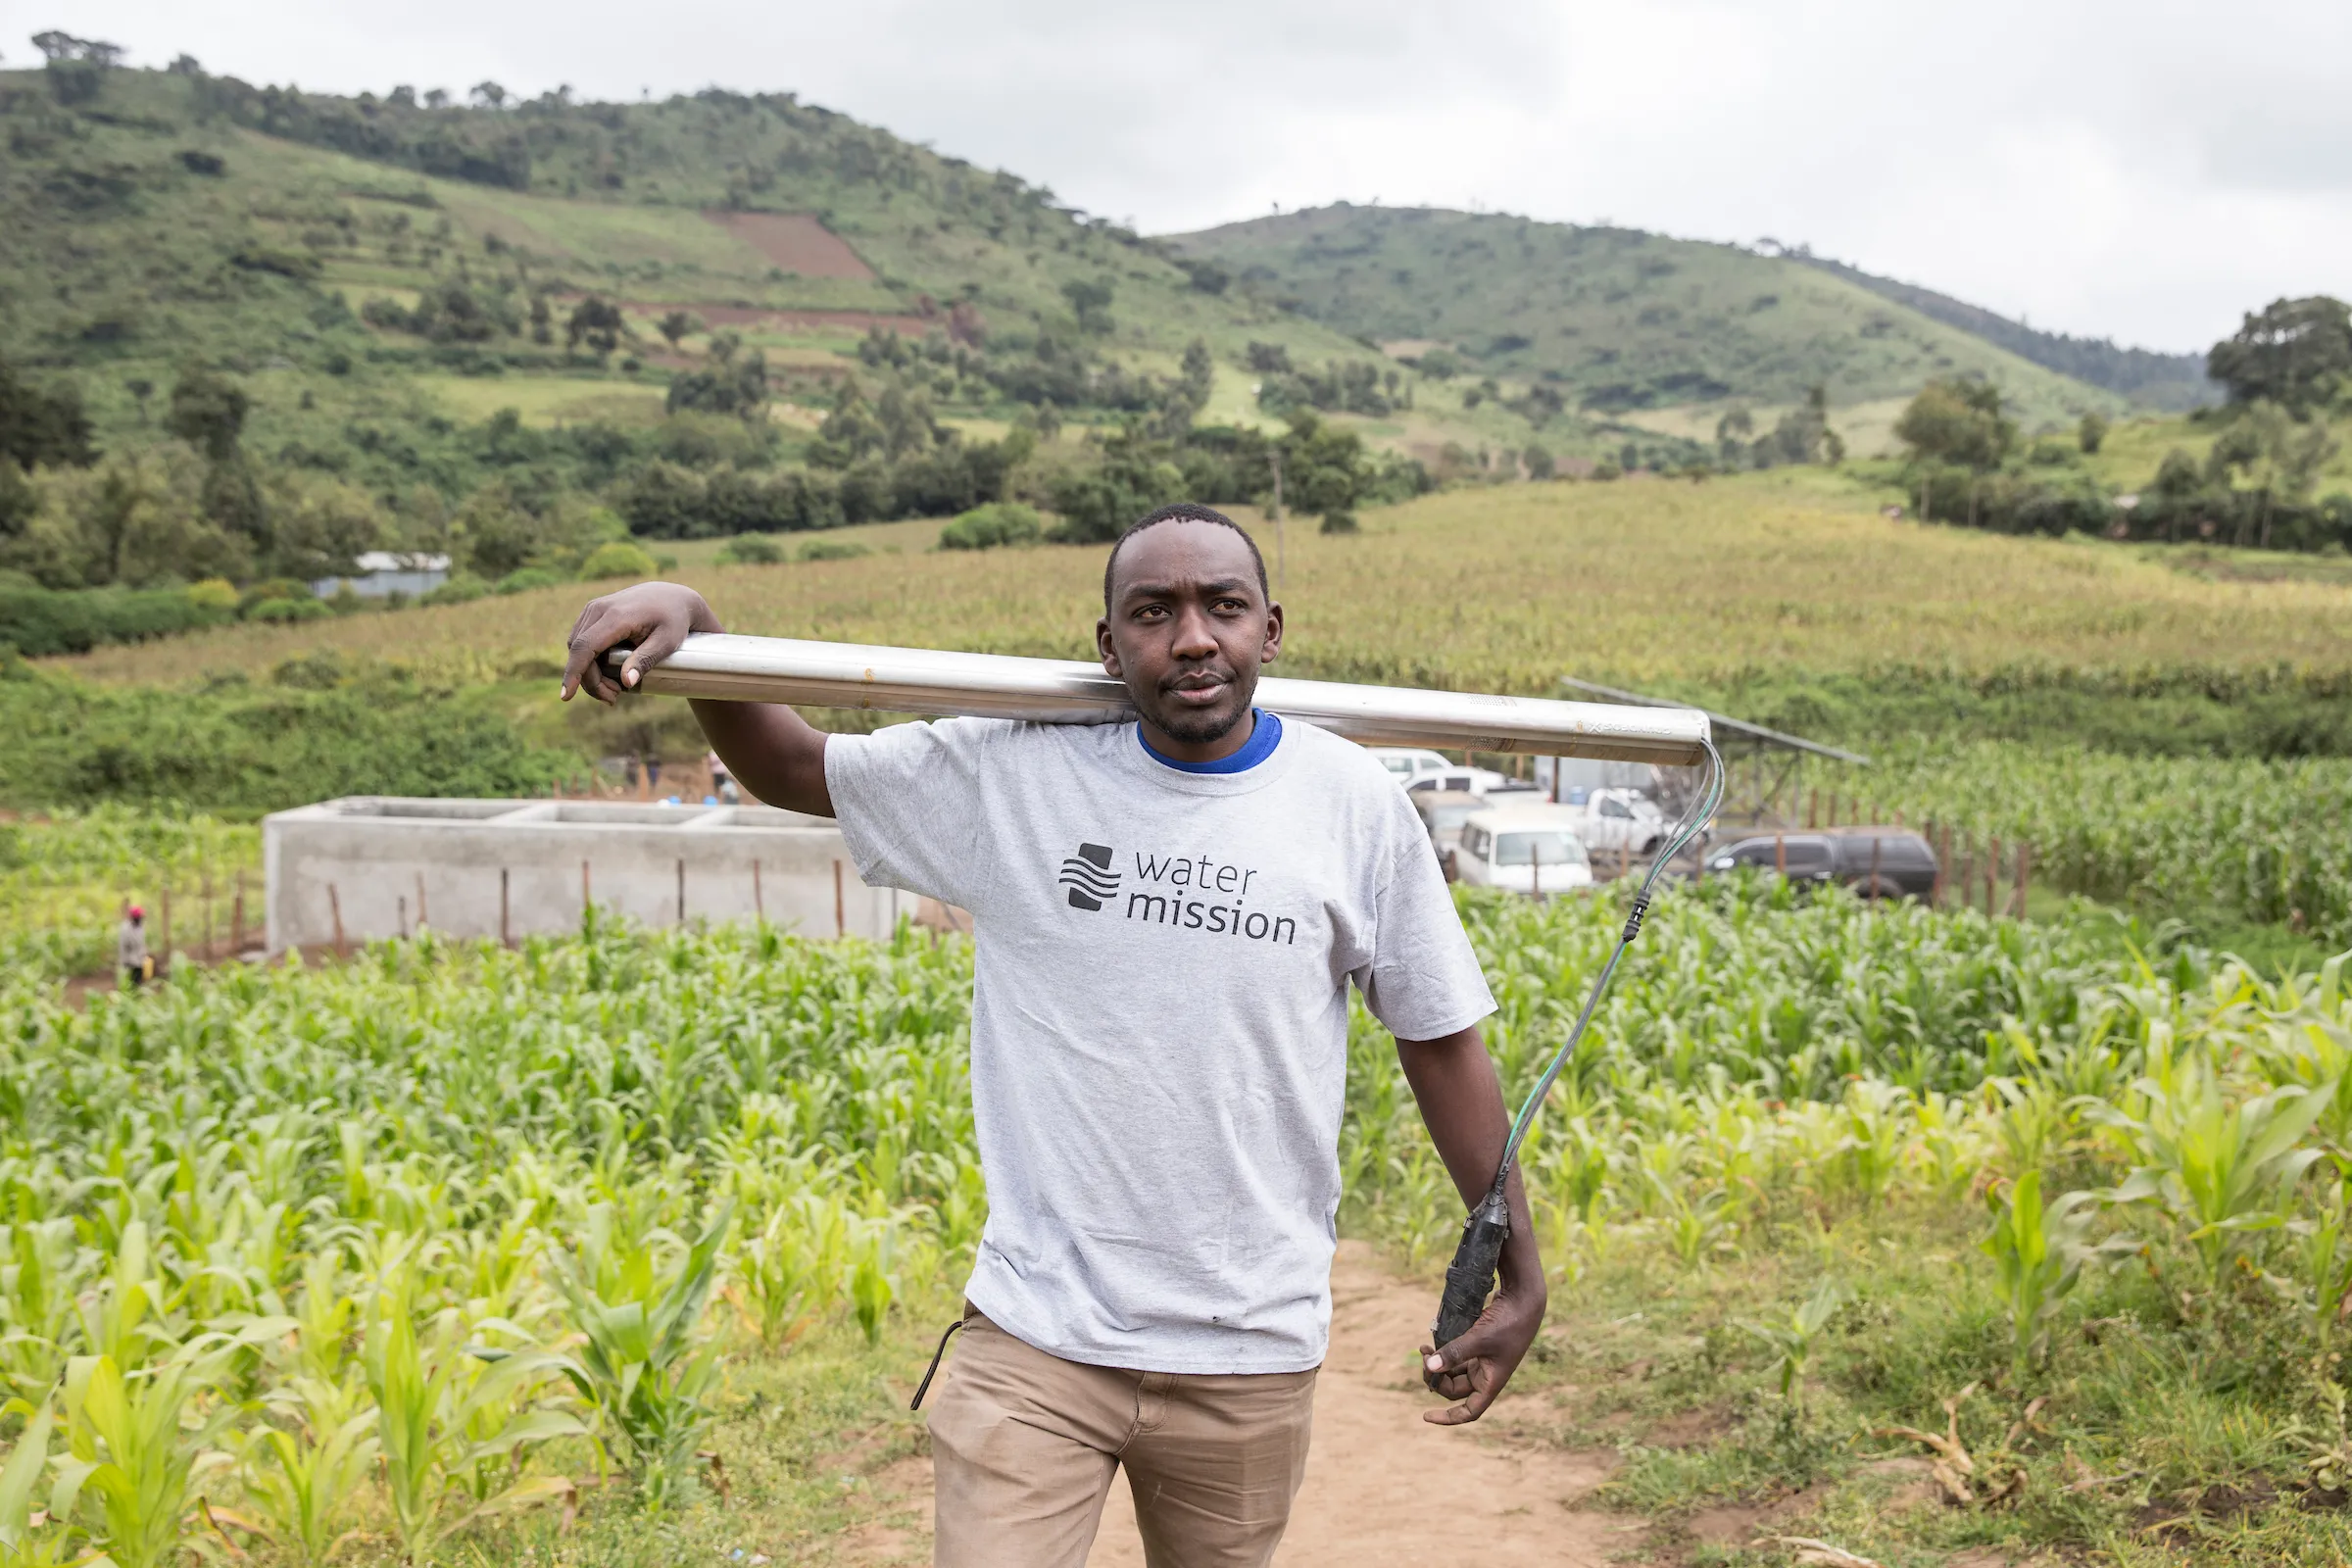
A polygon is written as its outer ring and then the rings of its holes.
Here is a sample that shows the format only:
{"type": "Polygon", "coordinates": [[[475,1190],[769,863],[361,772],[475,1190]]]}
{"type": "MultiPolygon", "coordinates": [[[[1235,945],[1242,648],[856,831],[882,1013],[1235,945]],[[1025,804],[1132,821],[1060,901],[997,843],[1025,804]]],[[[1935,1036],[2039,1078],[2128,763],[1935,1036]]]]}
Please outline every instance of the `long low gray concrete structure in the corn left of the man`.
{"type": "Polygon", "coordinates": [[[941,914],[868,889],[828,818],[774,806],[350,797],[261,823],[268,947],[405,936],[574,931],[586,900],[649,926],[767,919],[882,938],[941,914]],[[757,867],[757,870],[755,870],[757,867]],[[682,910],[680,910],[682,896],[682,910]]]}

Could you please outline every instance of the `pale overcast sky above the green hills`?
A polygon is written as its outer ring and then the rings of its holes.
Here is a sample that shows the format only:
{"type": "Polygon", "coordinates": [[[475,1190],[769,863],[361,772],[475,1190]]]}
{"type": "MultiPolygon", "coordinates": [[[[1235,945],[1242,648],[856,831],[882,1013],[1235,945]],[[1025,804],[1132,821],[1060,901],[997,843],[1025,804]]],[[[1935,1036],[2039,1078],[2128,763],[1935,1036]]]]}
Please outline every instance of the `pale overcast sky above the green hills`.
{"type": "MultiPolygon", "coordinates": [[[[1771,235],[2037,327],[2173,350],[2281,294],[2352,294],[2343,0],[9,12],[139,63],[186,49],[313,89],[797,92],[1148,233],[1345,197],[1771,235]]],[[[31,56],[21,38],[0,52],[31,56]]]]}

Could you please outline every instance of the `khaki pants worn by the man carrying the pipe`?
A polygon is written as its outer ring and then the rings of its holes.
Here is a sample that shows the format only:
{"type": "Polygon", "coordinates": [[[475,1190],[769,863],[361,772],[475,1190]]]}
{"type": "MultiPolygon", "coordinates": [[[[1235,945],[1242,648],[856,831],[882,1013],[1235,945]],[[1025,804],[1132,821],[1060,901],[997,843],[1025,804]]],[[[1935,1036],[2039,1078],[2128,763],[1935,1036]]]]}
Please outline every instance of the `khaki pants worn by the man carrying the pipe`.
{"type": "Polygon", "coordinates": [[[1315,1373],[1082,1366],[974,1314],[931,1408],[936,1568],[1084,1568],[1122,1465],[1150,1568],[1263,1568],[1308,1465],[1315,1373]]]}

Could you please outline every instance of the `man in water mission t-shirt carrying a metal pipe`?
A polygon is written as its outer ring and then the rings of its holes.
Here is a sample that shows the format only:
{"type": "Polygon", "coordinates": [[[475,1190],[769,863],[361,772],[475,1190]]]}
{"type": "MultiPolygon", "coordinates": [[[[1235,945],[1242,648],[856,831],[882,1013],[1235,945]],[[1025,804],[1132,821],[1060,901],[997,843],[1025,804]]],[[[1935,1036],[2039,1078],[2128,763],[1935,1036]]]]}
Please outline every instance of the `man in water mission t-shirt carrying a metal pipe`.
{"type": "MultiPolygon", "coordinates": [[[[614,701],[715,630],[687,588],[597,599],[564,696],[614,701]]],[[[1136,724],[826,736],[790,708],[694,703],[746,790],[837,818],[868,882],[974,917],[988,1229],[931,1408],[950,1568],[1080,1568],[1122,1465],[1155,1568],[1272,1556],[1331,1324],[1350,980],[1465,1201],[1508,1135],[1477,1032],[1494,1001],[1404,792],[1251,708],[1282,607],[1249,536],[1202,505],[1136,522],[1096,646],[1136,724]]],[[[1477,1420],[1543,1321],[1517,1175],[1510,1206],[1486,1314],[1423,1349],[1461,1401],[1439,1425],[1477,1420]]]]}

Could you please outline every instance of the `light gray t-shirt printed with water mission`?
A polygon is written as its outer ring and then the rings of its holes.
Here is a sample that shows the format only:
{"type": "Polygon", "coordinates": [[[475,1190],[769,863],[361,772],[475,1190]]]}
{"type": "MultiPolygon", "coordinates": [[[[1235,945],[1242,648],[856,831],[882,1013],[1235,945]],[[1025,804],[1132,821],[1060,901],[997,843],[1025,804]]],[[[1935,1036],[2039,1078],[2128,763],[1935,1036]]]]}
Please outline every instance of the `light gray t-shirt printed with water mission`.
{"type": "Polygon", "coordinates": [[[1402,1039],[1494,1011],[1388,771],[1305,724],[1192,773],[1134,724],[943,719],[833,736],[826,783],[861,877],[971,910],[971,1302],[1068,1361],[1319,1366],[1348,980],[1402,1039]]]}

